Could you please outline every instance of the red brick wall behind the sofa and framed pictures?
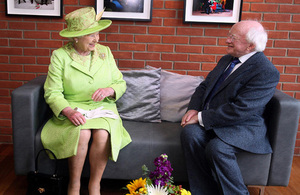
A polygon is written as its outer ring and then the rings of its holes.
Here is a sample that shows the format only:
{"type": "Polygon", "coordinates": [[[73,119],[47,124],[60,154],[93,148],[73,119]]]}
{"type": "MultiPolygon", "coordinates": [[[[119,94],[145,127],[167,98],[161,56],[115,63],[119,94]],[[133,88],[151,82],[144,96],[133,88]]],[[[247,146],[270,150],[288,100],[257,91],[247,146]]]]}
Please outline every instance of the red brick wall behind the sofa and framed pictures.
{"type": "MultiPolygon", "coordinates": [[[[13,89],[46,74],[52,51],[65,43],[58,32],[64,20],[5,15],[0,0],[0,143],[12,142],[13,89]]],[[[95,0],[64,0],[64,14],[95,0]]],[[[101,33],[120,68],[162,67],[203,75],[225,54],[231,25],[184,24],[184,1],[154,0],[152,22],[113,21],[101,33]]],[[[300,0],[245,0],[242,19],[257,19],[269,30],[265,54],[281,73],[278,89],[300,99],[300,0]]],[[[295,154],[300,154],[298,133],[295,154]]]]}

